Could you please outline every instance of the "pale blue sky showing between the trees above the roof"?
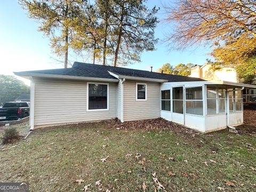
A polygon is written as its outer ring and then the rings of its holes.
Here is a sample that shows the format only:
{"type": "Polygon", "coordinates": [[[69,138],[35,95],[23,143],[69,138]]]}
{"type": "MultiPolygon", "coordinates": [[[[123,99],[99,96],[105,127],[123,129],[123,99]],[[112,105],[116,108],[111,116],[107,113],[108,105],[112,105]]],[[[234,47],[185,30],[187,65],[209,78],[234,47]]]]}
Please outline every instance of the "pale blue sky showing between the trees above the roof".
{"type": "MultiPolygon", "coordinates": [[[[148,0],[147,6],[160,7],[157,14],[159,20],[166,15],[162,4],[171,3],[171,0],[148,0]]],[[[0,74],[14,75],[15,71],[41,70],[62,68],[63,64],[56,62],[56,56],[52,53],[49,38],[38,31],[39,23],[28,18],[27,12],[21,9],[17,0],[3,0],[0,6],[0,74]],[[55,59],[54,59],[55,58],[55,59]]],[[[165,34],[171,28],[166,23],[159,22],[155,29],[155,36],[160,39],[156,45],[156,51],[143,52],[141,62],[125,66],[127,68],[150,70],[150,66],[156,71],[164,63],[176,66],[179,63],[193,63],[203,65],[208,53],[207,46],[190,47],[184,51],[170,51],[163,43],[165,34]]],[[[83,58],[69,55],[70,62],[92,62],[87,55],[83,58]]],[[[18,77],[29,84],[27,79],[18,77]]]]}

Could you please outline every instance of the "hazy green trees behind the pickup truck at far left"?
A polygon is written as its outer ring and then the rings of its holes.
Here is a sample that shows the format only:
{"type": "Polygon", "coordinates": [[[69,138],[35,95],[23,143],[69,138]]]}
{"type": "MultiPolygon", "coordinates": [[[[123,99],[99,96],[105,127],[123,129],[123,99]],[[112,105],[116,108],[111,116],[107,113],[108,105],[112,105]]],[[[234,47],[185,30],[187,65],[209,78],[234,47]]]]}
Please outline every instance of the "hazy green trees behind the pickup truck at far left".
{"type": "Polygon", "coordinates": [[[0,75],[0,103],[14,101],[21,94],[28,94],[29,86],[11,75],[0,75]]]}

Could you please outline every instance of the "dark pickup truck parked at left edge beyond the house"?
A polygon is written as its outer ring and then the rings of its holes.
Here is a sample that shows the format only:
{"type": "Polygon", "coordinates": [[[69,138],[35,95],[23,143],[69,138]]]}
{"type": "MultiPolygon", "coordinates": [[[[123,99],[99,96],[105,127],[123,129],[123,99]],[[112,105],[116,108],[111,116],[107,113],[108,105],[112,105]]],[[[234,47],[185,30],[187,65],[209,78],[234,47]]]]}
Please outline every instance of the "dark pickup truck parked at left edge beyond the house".
{"type": "Polygon", "coordinates": [[[0,108],[0,121],[17,120],[29,116],[29,102],[6,102],[0,108]]]}

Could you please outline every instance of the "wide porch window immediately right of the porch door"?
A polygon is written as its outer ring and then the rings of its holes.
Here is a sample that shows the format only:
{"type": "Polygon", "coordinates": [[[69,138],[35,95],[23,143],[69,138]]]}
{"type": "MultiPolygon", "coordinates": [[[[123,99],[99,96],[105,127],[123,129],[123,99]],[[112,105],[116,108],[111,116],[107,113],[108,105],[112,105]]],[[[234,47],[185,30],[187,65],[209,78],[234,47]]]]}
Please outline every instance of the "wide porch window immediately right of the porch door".
{"type": "Polygon", "coordinates": [[[202,86],[186,88],[186,113],[203,115],[202,86]]]}

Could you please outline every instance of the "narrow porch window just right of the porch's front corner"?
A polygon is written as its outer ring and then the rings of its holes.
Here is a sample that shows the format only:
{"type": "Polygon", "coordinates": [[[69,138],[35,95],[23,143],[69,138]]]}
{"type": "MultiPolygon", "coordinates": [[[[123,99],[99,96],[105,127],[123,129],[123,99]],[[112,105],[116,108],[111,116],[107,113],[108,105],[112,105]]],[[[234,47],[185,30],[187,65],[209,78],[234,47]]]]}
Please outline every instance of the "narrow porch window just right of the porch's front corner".
{"type": "Polygon", "coordinates": [[[217,114],[217,87],[207,85],[207,115],[217,114]]]}

